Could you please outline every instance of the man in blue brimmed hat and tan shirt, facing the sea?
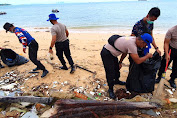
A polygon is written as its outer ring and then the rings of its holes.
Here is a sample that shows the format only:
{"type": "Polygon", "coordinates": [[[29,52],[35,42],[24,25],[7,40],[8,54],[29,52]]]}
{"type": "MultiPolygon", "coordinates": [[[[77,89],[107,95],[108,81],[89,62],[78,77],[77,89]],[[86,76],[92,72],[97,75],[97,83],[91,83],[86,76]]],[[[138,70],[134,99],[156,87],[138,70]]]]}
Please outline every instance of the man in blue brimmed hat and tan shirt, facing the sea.
{"type": "Polygon", "coordinates": [[[64,24],[57,22],[58,19],[59,18],[56,18],[55,14],[50,14],[49,19],[47,20],[53,24],[53,27],[51,28],[52,41],[49,47],[49,53],[53,53],[52,48],[55,45],[56,55],[58,56],[61,64],[63,65],[62,67],[60,67],[60,69],[68,70],[63,57],[64,53],[69,64],[71,65],[70,73],[72,74],[75,72],[75,67],[69,48],[69,39],[67,39],[67,37],[69,36],[69,32],[64,24]]]}

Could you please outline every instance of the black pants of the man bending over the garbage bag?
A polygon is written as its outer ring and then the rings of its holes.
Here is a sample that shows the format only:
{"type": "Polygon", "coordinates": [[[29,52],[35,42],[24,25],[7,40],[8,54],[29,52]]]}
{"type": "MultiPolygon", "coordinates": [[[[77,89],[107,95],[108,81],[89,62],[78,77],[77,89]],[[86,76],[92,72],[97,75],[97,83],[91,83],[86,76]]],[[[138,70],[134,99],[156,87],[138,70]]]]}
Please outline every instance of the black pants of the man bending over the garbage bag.
{"type": "Polygon", "coordinates": [[[113,89],[114,82],[119,80],[120,77],[118,58],[113,56],[110,51],[104,47],[101,51],[101,58],[106,72],[109,89],[113,89]]]}

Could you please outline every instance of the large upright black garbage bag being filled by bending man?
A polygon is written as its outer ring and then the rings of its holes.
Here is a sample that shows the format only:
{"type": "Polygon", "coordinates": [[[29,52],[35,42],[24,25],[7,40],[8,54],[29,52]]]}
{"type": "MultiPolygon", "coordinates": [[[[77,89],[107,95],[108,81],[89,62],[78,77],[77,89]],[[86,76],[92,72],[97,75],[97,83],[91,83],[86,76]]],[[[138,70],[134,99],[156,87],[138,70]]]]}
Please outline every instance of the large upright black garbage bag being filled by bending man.
{"type": "Polygon", "coordinates": [[[133,62],[126,81],[130,92],[151,93],[154,91],[157,70],[160,68],[161,56],[157,52],[141,64],[133,62]]]}

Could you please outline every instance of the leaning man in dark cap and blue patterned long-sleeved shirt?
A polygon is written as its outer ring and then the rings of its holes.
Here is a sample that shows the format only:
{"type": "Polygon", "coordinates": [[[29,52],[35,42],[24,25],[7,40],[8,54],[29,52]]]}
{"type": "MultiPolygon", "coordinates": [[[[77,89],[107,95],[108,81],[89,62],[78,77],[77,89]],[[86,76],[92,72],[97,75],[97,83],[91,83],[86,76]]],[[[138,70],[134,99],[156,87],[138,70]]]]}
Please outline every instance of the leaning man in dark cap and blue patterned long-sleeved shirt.
{"type": "Polygon", "coordinates": [[[15,27],[11,23],[5,23],[3,28],[6,30],[6,33],[9,31],[16,34],[20,43],[23,45],[24,53],[26,53],[26,47],[29,47],[29,58],[37,66],[35,69],[33,69],[33,71],[43,70],[41,78],[45,77],[48,74],[48,71],[45,69],[44,65],[42,65],[41,62],[37,60],[37,51],[39,47],[36,40],[26,30],[15,27]]]}

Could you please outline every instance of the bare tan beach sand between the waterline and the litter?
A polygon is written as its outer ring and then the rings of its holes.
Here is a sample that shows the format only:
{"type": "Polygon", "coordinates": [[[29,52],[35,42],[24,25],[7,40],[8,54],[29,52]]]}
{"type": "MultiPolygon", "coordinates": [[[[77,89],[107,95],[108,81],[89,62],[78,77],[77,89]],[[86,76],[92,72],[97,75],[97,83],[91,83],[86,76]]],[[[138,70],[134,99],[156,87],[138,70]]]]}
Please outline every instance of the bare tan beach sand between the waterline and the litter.
{"type": "MultiPolygon", "coordinates": [[[[78,64],[82,67],[85,67],[91,71],[96,71],[96,76],[93,77],[92,73],[89,73],[85,70],[81,70],[79,68],[76,69],[76,72],[74,74],[70,74],[69,70],[59,70],[58,66],[61,66],[60,61],[58,60],[58,57],[55,55],[55,48],[53,48],[54,51],[54,60],[52,61],[53,64],[56,65],[55,68],[51,64],[49,64],[47,60],[47,53],[48,49],[51,43],[51,34],[50,32],[29,32],[38,42],[39,44],[39,50],[38,50],[38,59],[41,60],[41,62],[45,65],[46,69],[49,70],[49,74],[41,78],[42,71],[39,71],[40,73],[25,81],[23,85],[21,85],[21,88],[25,91],[30,91],[34,86],[41,85],[42,83],[47,84],[49,88],[54,87],[53,82],[57,82],[55,89],[59,89],[61,91],[69,91],[71,89],[71,86],[76,87],[83,87],[86,88],[91,84],[91,81],[94,80],[101,80],[102,84],[107,84],[106,78],[105,78],[105,71],[104,67],[101,61],[100,57],[100,51],[102,50],[102,47],[104,44],[107,43],[107,39],[113,35],[113,33],[70,33],[69,40],[70,40],[70,50],[71,55],[74,60],[75,64],[78,64]],[[66,82],[67,81],[67,82],[66,82]],[[65,82],[65,86],[62,86],[62,83],[65,82]],[[69,85],[69,86],[68,86],[69,85]]],[[[125,35],[128,36],[129,34],[119,34],[119,35],[125,35]]],[[[22,50],[22,44],[19,43],[17,37],[15,34],[12,33],[5,33],[5,31],[0,31],[0,46],[4,48],[11,48],[16,53],[28,58],[28,49],[27,53],[23,53],[22,50]]],[[[163,41],[164,41],[165,34],[154,34],[154,38],[156,41],[157,46],[161,50],[163,54],[163,41]]],[[[154,48],[151,49],[151,52],[153,53],[155,50],[154,48]]],[[[29,58],[28,58],[29,59],[29,58]]],[[[120,57],[119,57],[120,59],[120,57]]],[[[66,60],[66,58],[65,58],[66,60]]],[[[68,61],[67,66],[69,67],[68,61]]],[[[1,62],[2,63],[2,62],[1,62]]],[[[123,61],[124,66],[120,70],[121,77],[120,80],[126,81],[126,78],[128,76],[128,56],[123,61]]],[[[3,64],[3,63],[2,63],[3,64]]],[[[26,73],[28,74],[29,71],[34,69],[36,66],[29,61],[28,63],[20,66],[15,67],[7,67],[5,64],[4,69],[0,69],[0,76],[4,75],[6,72],[10,72],[12,70],[17,70],[20,73],[26,73]]],[[[170,78],[171,71],[167,71],[167,79],[170,78]]],[[[25,77],[24,77],[25,78],[25,77]]],[[[157,86],[157,85],[156,85],[157,86]]],[[[125,88],[125,86],[116,85],[118,88],[125,88]]],[[[92,90],[92,86],[89,86],[90,90],[92,90]]],[[[104,91],[107,91],[107,86],[104,86],[102,89],[104,91]]]]}

